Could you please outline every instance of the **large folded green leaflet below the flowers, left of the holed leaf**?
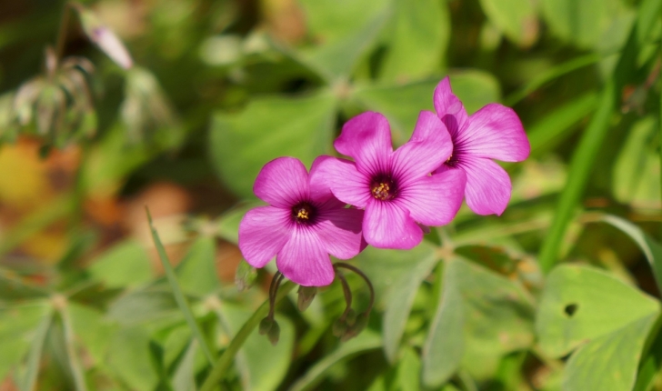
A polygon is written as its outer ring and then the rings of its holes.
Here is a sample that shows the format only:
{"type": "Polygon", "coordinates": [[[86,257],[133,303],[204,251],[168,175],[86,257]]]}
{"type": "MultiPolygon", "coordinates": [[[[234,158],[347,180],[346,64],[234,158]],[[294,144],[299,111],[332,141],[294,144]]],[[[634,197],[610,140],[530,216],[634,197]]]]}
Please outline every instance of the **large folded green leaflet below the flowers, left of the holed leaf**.
{"type": "Polygon", "coordinates": [[[447,261],[423,351],[426,386],[446,382],[466,355],[496,366],[500,356],[531,346],[532,301],[521,286],[503,276],[462,259],[447,261]]]}

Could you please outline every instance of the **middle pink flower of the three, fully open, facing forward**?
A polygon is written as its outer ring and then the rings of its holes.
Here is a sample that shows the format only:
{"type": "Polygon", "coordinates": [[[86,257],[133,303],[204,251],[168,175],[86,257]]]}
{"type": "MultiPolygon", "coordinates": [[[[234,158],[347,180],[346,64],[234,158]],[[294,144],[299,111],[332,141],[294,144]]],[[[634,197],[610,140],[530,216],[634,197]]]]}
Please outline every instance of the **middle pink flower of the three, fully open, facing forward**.
{"type": "Polygon", "coordinates": [[[441,226],[456,216],[466,177],[462,170],[430,175],[453,149],[446,126],[434,113],[421,112],[411,139],[396,151],[388,121],[373,112],[349,120],[334,145],[354,162],[322,156],[315,180],[324,180],[341,201],[366,210],[368,244],[412,248],[423,239],[416,223],[441,226]]]}

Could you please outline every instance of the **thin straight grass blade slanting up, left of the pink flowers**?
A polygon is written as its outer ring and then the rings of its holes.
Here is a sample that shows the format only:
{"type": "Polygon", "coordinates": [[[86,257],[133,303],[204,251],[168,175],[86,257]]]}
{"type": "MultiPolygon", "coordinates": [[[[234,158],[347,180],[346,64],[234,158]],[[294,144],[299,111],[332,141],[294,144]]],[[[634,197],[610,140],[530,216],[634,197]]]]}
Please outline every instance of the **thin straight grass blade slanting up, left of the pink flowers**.
{"type": "Polygon", "coordinates": [[[146,206],[145,206],[145,211],[147,213],[147,221],[149,221],[149,230],[151,231],[152,239],[154,240],[154,246],[156,246],[158,257],[161,259],[161,264],[163,265],[163,268],[165,270],[165,277],[167,278],[168,283],[170,284],[170,287],[173,290],[173,296],[175,296],[177,306],[179,306],[179,309],[184,314],[184,317],[186,318],[186,323],[188,324],[189,327],[191,327],[193,336],[195,336],[197,342],[200,344],[200,348],[205,354],[206,359],[209,361],[209,364],[214,364],[214,356],[212,356],[212,351],[206,343],[205,336],[202,335],[200,326],[197,325],[196,317],[193,316],[193,311],[191,311],[191,307],[188,306],[188,300],[186,300],[186,296],[184,296],[184,293],[182,293],[182,289],[179,287],[179,284],[177,283],[175,270],[173,269],[173,266],[170,265],[170,260],[168,259],[168,256],[165,254],[165,248],[161,243],[161,239],[158,237],[158,233],[156,232],[156,229],[152,222],[152,216],[149,214],[149,209],[147,209],[146,206]]]}

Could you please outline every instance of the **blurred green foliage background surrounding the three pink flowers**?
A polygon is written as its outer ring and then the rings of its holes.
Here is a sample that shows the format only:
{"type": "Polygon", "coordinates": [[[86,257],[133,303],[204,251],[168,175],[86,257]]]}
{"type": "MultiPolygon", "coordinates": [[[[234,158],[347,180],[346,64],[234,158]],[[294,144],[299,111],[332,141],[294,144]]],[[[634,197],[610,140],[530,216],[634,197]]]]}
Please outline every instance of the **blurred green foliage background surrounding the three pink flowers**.
{"type": "Polygon", "coordinates": [[[377,306],[346,343],[337,283],[304,313],[290,294],[278,345],[254,332],[217,388],[662,390],[661,4],[3,1],[0,390],[208,386],[204,346],[228,350],[276,271],[236,289],[262,165],[333,155],[366,110],[401,145],[446,75],[469,114],[525,125],[507,211],[357,256],[377,306]]]}

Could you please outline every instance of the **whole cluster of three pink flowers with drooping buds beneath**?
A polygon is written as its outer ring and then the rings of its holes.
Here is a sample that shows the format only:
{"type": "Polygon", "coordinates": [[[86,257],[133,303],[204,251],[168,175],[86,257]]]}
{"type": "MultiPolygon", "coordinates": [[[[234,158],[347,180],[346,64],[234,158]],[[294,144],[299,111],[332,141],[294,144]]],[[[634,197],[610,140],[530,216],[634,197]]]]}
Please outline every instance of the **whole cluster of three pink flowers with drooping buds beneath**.
{"type": "MultiPolygon", "coordinates": [[[[338,276],[348,303],[334,329],[343,338],[354,336],[369,308],[352,315],[351,292],[339,268],[364,277],[371,293],[372,286],[356,267],[332,264],[329,255],[350,259],[367,245],[413,248],[427,226],[448,224],[463,199],[478,215],[503,213],[512,186],[493,159],[519,162],[530,151],[517,114],[490,104],[467,115],[448,77],[436,86],[434,105],[436,113],[422,111],[409,141],[395,151],[386,117],[366,112],[346,122],[334,142],[351,160],[319,156],[308,172],[296,158],[280,157],[262,168],[254,192],[268,206],[246,213],[239,248],[255,267],[276,256],[272,303],[284,277],[302,286],[299,304],[306,307],[316,286],[338,276]]],[[[273,330],[272,306],[261,332],[273,341],[273,330]]]]}

